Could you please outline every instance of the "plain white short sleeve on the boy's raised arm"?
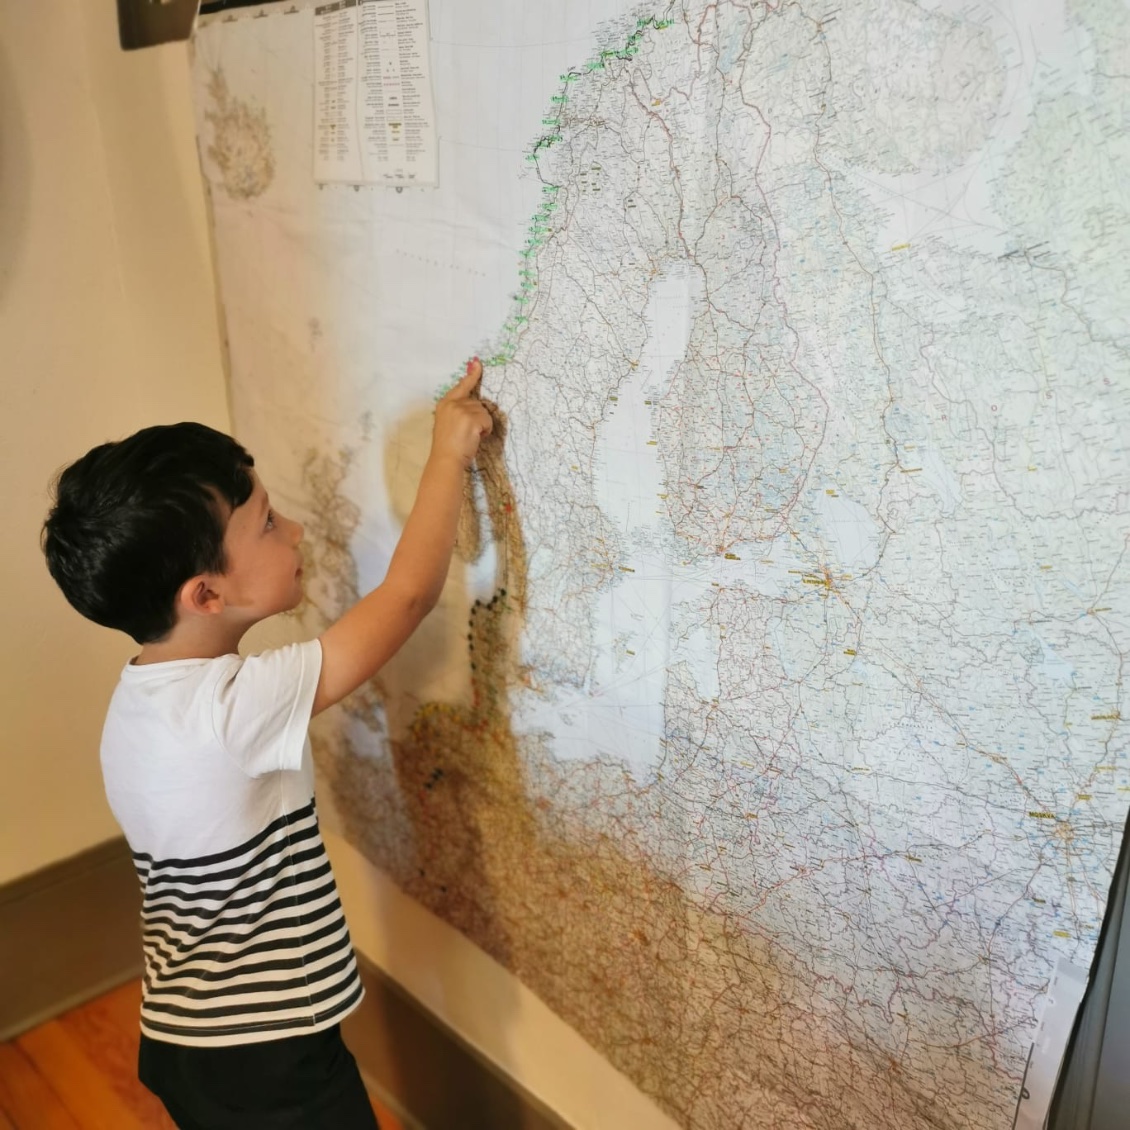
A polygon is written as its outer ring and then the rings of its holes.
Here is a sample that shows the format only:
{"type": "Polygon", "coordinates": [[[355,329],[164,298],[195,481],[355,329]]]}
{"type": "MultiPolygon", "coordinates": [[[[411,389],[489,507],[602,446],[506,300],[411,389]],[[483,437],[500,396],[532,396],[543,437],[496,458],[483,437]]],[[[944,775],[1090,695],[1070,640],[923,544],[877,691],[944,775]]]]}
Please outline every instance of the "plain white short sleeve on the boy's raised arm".
{"type": "Polygon", "coordinates": [[[318,640],[232,658],[215,686],[212,728],[249,776],[302,766],[321,669],[318,640]]]}

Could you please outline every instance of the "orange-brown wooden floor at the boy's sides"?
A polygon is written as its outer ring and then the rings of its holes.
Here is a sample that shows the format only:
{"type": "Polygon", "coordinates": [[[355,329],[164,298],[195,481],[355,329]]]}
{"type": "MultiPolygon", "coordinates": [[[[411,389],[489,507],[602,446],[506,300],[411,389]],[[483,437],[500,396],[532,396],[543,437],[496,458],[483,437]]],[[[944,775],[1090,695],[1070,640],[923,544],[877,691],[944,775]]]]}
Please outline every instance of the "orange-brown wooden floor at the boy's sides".
{"type": "MultiPolygon", "coordinates": [[[[175,1130],[138,1081],[140,1002],[131,981],[0,1044],[0,1130],[175,1130]]],[[[381,1130],[403,1130],[373,1110],[381,1130]]]]}

